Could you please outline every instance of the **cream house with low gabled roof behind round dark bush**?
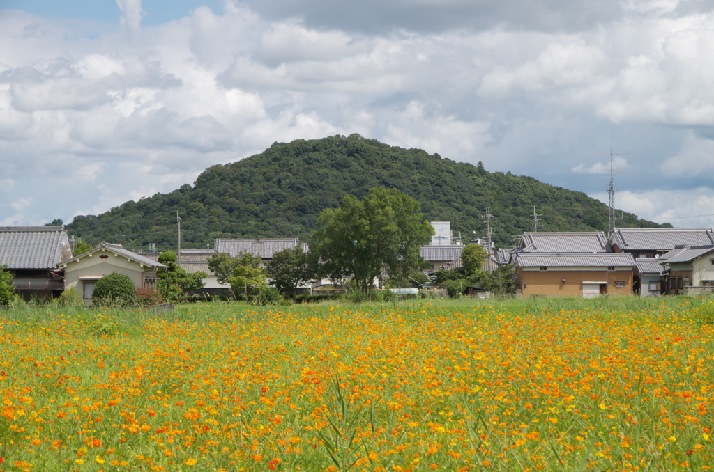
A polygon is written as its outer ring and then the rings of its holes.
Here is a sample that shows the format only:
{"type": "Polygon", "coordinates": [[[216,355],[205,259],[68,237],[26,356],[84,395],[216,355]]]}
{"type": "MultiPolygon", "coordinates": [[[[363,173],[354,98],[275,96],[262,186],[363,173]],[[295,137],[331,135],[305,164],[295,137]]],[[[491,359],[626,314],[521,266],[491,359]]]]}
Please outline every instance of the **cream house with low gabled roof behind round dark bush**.
{"type": "Polygon", "coordinates": [[[64,269],[65,287],[74,287],[84,299],[90,299],[97,280],[104,275],[121,272],[129,275],[137,288],[155,288],[156,270],[166,266],[126,250],[121,245],[102,242],[91,251],[62,261],[59,267],[64,269]]]}

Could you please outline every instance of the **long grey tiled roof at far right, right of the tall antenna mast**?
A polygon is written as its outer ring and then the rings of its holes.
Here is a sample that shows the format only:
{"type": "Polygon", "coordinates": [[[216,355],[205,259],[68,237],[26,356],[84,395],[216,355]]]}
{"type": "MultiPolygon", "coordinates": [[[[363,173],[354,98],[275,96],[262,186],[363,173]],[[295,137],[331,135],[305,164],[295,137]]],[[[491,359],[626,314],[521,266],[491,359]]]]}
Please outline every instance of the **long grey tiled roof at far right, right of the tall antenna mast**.
{"type": "Polygon", "coordinates": [[[610,244],[623,251],[670,251],[678,245],[714,245],[711,228],[615,228],[610,244]]]}

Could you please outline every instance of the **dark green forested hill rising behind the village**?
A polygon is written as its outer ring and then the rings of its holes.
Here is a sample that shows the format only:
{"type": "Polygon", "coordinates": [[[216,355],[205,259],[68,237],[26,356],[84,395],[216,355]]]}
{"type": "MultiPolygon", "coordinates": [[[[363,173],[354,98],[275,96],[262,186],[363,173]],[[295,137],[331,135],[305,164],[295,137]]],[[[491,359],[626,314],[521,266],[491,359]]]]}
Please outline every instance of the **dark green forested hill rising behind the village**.
{"type": "MultiPolygon", "coordinates": [[[[346,194],[363,197],[372,187],[397,188],[421,202],[427,220],[451,221],[468,241],[491,208],[498,247],[533,230],[533,206],[542,231],[606,230],[608,207],[585,193],[553,187],[531,177],[489,173],[478,166],[362,138],[333,136],[274,143],[265,152],[213,165],[193,187],[129,201],[99,216],[74,218],[71,235],[90,242],[119,242],[129,249],[176,247],[176,211],[183,247],[206,247],[217,237],[299,237],[308,241],[323,208],[337,207],[346,194]]],[[[620,225],[657,227],[624,214],[620,225]]]]}

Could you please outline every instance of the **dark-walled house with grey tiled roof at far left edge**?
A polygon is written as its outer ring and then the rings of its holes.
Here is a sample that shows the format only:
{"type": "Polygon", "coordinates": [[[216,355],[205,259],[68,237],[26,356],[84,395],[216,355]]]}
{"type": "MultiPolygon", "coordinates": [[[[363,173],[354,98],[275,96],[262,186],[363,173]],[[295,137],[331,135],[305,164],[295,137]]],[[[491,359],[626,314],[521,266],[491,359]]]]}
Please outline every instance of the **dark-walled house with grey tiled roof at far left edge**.
{"type": "Polygon", "coordinates": [[[57,264],[72,257],[64,227],[0,227],[0,266],[12,273],[16,292],[26,300],[51,299],[64,290],[57,264]]]}

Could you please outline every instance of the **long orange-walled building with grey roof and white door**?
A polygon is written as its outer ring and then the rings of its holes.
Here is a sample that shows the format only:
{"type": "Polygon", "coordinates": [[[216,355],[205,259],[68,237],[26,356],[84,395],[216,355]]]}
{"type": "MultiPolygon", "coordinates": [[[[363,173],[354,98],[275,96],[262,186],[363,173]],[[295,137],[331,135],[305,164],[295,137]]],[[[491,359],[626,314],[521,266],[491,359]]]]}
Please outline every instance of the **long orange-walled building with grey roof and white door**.
{"type": "Polygon", "coordinates": [[[521,253],[516,257],[516,293],[524,297],[632,294],[635,260],[611,252],[521,253]]]}

